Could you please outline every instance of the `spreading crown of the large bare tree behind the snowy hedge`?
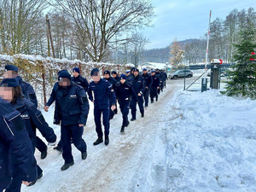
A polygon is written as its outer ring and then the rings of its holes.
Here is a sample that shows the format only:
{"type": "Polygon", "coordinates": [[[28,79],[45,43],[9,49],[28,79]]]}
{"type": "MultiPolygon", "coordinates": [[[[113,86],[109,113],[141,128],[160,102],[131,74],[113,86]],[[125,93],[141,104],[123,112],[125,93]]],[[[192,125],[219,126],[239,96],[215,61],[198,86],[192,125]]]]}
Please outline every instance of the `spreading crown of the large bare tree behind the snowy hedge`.
{"type": "Polygon", "coordinates": [[[56,8],[73,18],[82,49],[92,61],[107,56],[117,32],[149,25],[153,6],[149,0],[55,0],[56,8]]]}

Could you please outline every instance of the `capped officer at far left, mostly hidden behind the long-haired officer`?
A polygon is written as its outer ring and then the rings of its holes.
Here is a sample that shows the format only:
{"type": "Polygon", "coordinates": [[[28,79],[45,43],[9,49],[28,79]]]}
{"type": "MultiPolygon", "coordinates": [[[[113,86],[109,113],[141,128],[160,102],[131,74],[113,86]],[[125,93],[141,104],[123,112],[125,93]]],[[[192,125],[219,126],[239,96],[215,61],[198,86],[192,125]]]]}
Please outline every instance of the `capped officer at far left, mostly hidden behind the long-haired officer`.
{"type": "MultiPolygon", "coordinates": [[[[22,78],[18,76],[18,67],[15,67],[14,65],[6,65],[3,77],[5,79],[19,79],[19,85],[21,87],[23,96],[33,102],[35,107],[38,108],[38,100],[35,90],[32,88],[31,84],[23,81],[22,78]]],[[[38,148],[38,150],[41,152],[41,159],[44,159],[47,156],[47,146],[39,137],[36,137],[36,148],[38,148]]]]}

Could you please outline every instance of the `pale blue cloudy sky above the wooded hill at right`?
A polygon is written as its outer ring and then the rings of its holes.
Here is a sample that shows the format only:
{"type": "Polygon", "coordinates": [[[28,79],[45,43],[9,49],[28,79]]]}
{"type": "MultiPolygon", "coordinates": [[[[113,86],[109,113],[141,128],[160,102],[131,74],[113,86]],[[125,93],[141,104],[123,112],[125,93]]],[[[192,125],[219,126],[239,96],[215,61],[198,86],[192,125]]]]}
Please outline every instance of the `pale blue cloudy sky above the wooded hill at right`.
{"type": "Polygon", "coordinates": [[[207,32],[209,14],[212,21],[225,19],[233,9],[256,9],[256,0],[152,0],[154,5],[154,27],[142,32],[150,44],[147,49],[163,48],[188,38],[201,38],[207,32]]]}

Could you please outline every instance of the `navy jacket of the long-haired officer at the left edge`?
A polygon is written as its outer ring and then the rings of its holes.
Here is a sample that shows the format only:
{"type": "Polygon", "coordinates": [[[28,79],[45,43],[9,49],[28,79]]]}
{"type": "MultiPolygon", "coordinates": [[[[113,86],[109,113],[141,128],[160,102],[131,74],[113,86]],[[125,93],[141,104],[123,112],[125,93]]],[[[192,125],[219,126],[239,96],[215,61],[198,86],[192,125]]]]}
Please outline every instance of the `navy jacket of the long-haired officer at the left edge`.
{"type": "Polygon", "coordinates": [[[27,99],[18,99],[13,108],[20,112],[20,117],[24,120],[26,131],[32,144],[36,143],[36,131],[41,132],[42,136],[49,143],[55,143],[56,135],[52,128],[46,123],[43,114],[35,108],[34,103],[27,99]]]}

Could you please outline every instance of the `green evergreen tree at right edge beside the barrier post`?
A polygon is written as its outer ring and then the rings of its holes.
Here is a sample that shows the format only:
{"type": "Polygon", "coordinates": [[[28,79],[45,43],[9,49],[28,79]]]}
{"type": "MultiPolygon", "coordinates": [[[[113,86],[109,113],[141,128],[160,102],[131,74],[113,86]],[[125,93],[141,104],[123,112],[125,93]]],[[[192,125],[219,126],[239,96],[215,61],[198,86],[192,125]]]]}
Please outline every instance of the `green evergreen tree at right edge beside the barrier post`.
{"type": "Polygon", "coordinates": [[[248,24],[241,30],[241,43],[235,44],[236,65],[230,71],[224,94],[227,96],[249,96],[256,98],[256,44],[255,28],[248,24]]]}

